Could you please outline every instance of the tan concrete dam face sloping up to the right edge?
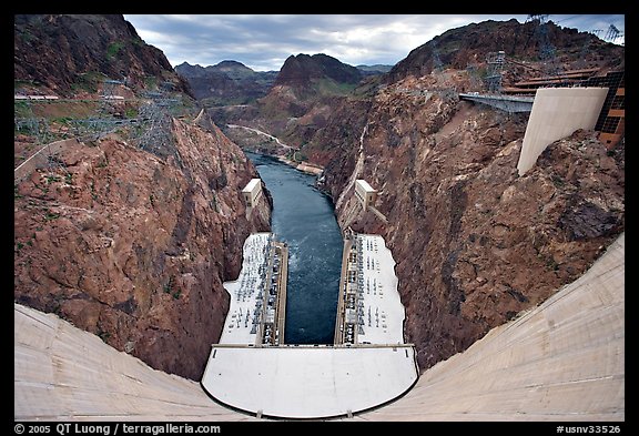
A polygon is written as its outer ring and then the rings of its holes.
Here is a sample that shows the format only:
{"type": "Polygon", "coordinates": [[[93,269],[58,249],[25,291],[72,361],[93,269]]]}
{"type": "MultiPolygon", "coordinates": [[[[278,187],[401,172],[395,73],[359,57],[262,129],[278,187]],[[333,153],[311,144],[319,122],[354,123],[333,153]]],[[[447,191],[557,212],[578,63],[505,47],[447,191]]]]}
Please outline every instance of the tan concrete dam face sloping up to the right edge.
{"type": "Polygon", "coordinates": [[[579,280],[356,419],[623,420],[625,235],[579,280]]]}

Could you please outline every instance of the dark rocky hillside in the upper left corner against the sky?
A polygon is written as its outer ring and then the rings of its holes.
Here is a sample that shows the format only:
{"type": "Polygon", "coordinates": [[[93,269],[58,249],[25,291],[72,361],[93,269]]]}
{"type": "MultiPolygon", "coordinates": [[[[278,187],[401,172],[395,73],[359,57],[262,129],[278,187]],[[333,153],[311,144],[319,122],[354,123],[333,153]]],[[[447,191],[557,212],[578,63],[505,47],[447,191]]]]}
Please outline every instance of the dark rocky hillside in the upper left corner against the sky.
{"type": "Polygon", "coordinates": [[[13,48],[14,79],[60,95],[94,87],[92,74],[126,80],[135,89],[152,77],[190,93],[164,53],[120,14],[17,14],[13,48]]]}

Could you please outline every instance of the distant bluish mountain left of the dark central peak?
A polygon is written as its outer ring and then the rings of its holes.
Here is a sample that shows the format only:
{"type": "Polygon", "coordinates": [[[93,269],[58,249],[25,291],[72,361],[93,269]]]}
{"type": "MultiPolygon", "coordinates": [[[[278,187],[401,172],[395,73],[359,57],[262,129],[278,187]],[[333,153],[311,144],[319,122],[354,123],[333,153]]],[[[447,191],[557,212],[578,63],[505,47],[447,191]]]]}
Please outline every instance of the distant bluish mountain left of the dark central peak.
{"type": "Polygon", "coordinates": [[[222,61],[201,67],[184,62],[175,71],[193,90],[193,95],[207,105],[246,104],[268,93],[276,71],[253,71],[243,63],[222,61]]]}

